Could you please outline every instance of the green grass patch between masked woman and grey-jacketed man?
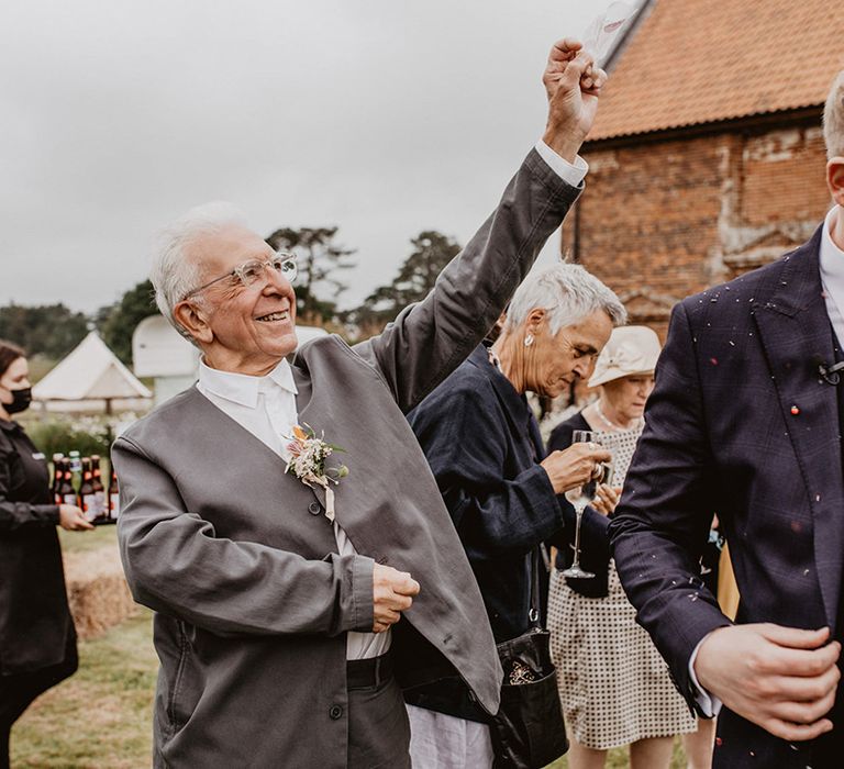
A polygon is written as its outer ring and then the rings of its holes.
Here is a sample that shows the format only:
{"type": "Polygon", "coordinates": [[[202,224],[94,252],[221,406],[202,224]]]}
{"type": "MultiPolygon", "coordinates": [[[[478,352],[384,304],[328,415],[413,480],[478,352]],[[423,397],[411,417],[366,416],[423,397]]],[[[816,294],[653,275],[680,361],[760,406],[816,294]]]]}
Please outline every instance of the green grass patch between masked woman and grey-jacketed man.
{"type": "Polygon", "coordinates": [[[78,672],[38,698],[12,728],[12,766],[151,766],[157,667],[145,610],[100,638],[80,642],[78,672]]]}

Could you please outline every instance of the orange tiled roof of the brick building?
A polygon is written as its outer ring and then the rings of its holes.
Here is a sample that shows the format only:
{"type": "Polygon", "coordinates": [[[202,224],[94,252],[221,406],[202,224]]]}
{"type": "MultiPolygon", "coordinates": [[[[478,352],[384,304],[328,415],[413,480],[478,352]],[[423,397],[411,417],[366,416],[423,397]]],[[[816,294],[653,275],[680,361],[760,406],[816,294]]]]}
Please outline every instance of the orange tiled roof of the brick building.
{"type": "Polygon", "coordinates": [[[842,68],[841,0],[656,0],[589,140],[815,107],[842,68]]]}

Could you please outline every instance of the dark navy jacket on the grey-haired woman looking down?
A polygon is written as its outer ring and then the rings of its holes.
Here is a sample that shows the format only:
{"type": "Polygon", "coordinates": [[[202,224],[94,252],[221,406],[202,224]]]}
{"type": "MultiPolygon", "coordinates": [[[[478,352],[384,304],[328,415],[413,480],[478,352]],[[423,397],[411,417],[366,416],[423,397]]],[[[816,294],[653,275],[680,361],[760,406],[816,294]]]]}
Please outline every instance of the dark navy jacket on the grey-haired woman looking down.
{"type": "MultiPolygon", "coordinates": [[[[524,395],[478,347],[409,420],[469,558],[496,640],[521,635],[530,624],[531,555],[564,526],[564,511],[538,464],[545,450],[524,395]]],[[[546,590],[547,579],[543,606],[546,590]]],[[[459,682],[445,680],[406,692],[406,700],[484,721],[460,691],[459,682]]]]}

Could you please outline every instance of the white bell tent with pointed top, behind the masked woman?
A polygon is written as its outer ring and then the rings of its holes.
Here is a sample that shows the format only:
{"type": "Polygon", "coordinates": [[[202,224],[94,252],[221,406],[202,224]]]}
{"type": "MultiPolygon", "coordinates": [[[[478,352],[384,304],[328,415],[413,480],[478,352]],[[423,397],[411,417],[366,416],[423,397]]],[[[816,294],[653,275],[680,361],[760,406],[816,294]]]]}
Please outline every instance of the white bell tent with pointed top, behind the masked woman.
{"type": "Polygon", "coordinates": [[[32,389],[48,411],[146,410],[153,393],[92,331],[32,389]]]}

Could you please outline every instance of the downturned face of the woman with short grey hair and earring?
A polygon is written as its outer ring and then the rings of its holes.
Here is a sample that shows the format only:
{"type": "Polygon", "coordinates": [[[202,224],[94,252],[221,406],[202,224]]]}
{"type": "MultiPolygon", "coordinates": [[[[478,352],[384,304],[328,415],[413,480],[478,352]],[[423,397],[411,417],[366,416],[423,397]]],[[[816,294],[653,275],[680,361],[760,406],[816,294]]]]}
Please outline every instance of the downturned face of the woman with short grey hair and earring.
{"type": "MultiPolygon", "coordinates": [[[[528,331],[533,336],[533,350],[526,356],[526,389],[537,395],[556,398],[576,379],[588,379],[598,354],[612,333],[610,316],[598,310],[580,323],[563,326],[552,336],[543,311],[531,313],[528,331]]],[[[529,348],[530,349],[530,348],[529,348]]]]}

